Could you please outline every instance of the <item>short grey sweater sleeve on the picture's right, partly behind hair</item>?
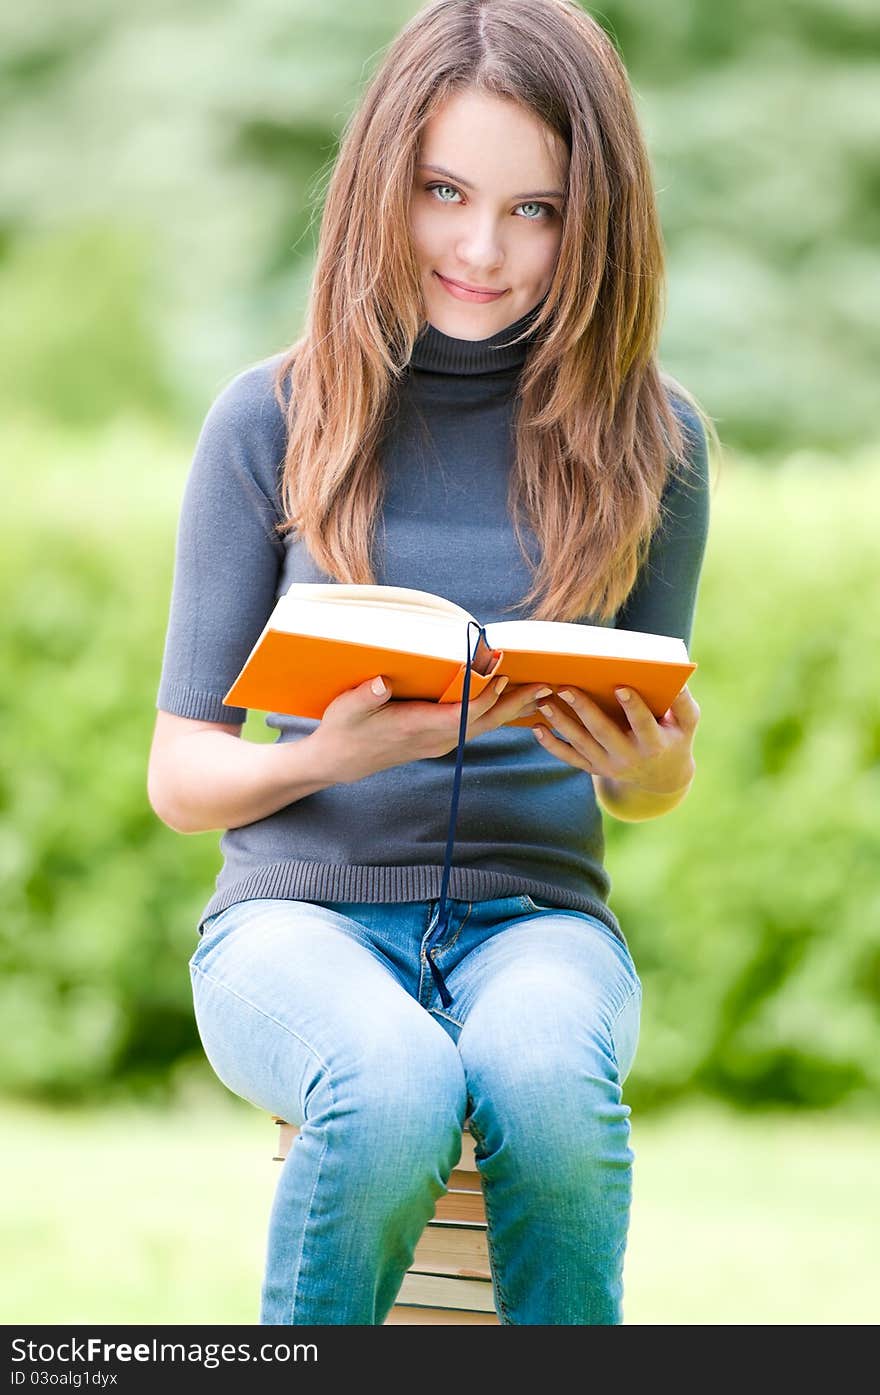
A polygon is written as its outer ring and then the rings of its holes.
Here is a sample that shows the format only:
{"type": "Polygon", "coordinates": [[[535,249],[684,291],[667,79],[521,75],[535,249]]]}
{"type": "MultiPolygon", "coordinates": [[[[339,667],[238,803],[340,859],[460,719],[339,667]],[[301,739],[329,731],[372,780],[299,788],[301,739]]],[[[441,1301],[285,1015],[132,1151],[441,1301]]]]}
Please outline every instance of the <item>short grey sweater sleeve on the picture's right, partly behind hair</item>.
{"type": "Polygon", "coordinates": [[[690,649],[708,537],[708,446],[703,423],[690,405],[676,398],[674,406],[685,430],[689,469],[669,472],[661,523],[615,625],[672,635],[690,649]]]}

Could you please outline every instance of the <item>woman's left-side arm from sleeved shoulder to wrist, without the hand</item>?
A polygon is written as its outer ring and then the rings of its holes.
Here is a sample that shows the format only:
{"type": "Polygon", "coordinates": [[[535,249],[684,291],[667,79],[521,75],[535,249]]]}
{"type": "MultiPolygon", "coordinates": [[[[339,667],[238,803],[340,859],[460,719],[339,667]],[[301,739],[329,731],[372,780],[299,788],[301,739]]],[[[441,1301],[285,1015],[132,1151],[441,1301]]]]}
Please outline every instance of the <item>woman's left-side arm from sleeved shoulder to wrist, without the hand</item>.
{"type": "Polygon", "coordinates": [[[241,741],[223,702],[278,598],[285,543],[276,480],[285,420],[273,361],[247,368],[212,403],[185,481],[148,797],[179,833],[234,829],[335,784],[310,738],[241,741]]]}

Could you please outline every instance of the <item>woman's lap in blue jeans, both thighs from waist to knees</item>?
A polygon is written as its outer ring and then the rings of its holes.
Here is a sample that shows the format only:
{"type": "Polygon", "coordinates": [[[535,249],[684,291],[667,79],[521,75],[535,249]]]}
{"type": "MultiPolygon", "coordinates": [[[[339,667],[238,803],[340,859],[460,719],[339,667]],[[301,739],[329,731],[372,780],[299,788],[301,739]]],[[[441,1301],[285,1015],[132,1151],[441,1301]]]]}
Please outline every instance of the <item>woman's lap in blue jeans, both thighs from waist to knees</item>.
{"type": "Polygon", "coordinates": [[[375,1076],[377,1091],[411,1096],[438,1077],[455,1096],[477,1074],[552,1095],[587,1060],[622,1084],[642,995],[612,930],[522,897],[448,901],[443,1010],[424,958],[437,904],[259,898],[213,917],[190,971],[219,1078],[294,1123],[321,1081],[356,1069],[361,1091],[375,1076]]]}

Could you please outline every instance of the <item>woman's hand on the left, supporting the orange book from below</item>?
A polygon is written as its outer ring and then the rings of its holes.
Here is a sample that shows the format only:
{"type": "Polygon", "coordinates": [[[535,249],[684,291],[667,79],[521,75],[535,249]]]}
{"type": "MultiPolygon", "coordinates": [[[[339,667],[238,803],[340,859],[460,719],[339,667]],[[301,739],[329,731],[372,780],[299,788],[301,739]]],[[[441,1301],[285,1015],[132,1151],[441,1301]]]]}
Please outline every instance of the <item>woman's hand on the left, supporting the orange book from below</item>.
{"type": "MultiPolygon", "coordinates": [[[[375,693],[372,682],[368,678],[339,693],[307,738],[324,749],[326,769],[337,783],[353,784],[407,760],[445,756],[456,749],[460,702],[393,702],[388,681],[384,693],[375,693]]],[[[537,711],[537,699],[547,692],[545,684],[510,685],[506,679],[492,679],[467,704],[466,739],[537,711]],[[502,693],[496,692],[496,682],[505,684],[502,693]]]]}

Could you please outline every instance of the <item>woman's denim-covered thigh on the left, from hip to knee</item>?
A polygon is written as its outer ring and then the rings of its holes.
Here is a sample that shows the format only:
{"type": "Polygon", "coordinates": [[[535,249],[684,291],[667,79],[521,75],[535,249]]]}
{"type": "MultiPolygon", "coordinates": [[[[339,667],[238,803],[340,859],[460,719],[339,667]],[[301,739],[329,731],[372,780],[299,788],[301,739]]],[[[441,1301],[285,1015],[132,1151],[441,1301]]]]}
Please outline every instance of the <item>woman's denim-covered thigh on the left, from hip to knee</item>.
{"type": "Polygon", "coordinates": [[[372,1101],[403,1116],[434,1099],[463,1117],[455,1045],[347,917],[240,901],[206,923],[190,975],[212,1069],[258,1108],[301,1124],[317,1095],[337,1113],[372,1101]]]}

